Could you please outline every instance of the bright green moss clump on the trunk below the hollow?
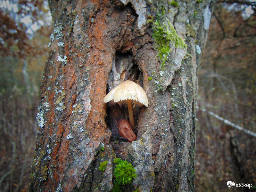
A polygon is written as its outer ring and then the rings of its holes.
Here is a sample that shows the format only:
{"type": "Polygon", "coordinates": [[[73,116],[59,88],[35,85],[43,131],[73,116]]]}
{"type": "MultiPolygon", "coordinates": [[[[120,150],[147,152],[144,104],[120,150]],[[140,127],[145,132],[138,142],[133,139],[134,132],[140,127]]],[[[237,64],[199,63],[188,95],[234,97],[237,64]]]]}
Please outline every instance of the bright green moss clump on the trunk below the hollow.
{"type": "Polygon", "coordinates": [[[132,164],[128,163],[126,160],[122,161],[120,158],[115,159],[113,162],[116,162],[114,176],[117,184],[125,185],[132,183],[132,180],[137,177],[135,173],[136,170],[133,168],[132,164]]]}

